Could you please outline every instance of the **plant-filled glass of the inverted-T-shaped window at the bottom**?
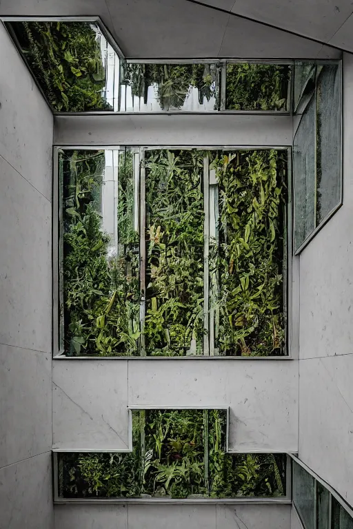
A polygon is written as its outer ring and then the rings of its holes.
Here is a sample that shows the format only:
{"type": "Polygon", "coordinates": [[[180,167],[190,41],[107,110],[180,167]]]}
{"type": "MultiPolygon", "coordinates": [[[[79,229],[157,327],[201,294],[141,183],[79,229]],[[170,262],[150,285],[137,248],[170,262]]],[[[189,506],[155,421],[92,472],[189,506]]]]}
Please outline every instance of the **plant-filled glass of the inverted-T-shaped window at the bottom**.
{"type": "Polygon", "coordinates": [[[286,456],[225,453],[226,410],[132,411],[131,453],[59,454],[59,496],[277,497],[286,456]]]}

